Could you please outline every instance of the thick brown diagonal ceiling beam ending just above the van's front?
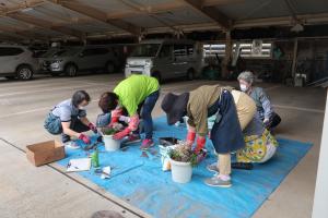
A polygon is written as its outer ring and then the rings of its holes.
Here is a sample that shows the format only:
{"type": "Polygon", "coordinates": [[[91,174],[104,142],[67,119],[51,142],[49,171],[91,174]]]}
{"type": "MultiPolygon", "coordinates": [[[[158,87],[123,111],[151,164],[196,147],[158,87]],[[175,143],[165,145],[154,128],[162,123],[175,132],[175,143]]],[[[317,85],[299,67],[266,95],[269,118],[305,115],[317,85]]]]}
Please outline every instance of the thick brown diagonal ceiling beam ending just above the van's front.
{"type": "Polygon", "coordinates": [[[118,19],[109,19],[107,16],[107,13],[99,11],[95,8],[92,8],[90,5],[82,4],[78,1],[63,1],[63,0],[52,0],[54,3],[60,4],[61,7],[65,7],[67,9],[70,9],[72,11],[75,11],[80,14],[90,16],[92,19],[95,19],[97,21],[110,24],[117,28],[124,29],[132,35],[140,35],[141,28],[139,26],[136,26],[129,22],[121,21],[118,19]]]}

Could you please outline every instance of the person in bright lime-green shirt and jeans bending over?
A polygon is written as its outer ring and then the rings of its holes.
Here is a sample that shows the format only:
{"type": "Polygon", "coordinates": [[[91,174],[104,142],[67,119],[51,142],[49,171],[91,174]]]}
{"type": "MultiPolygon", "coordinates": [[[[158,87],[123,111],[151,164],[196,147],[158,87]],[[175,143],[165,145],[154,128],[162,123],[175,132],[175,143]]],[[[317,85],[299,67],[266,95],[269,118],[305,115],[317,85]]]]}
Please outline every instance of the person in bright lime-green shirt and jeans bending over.
{"type": "Polygon", "coordinates": [[[113,126],[120,120],[124,111],[129,117],[128,126],[115,134],[114,138],[121,140],[125,136],[129,136],[127,143],[140,142],[141,138],[137,129],[141,118],[145,138],[140,148],[148,149],[153,146],[153,120],[151,113],[159,96],[160,84],[157,80],[147,75],[131,75],[121,81],[114,88],[114,92],[104,93],[98,106],[104,113],[112,112],[109,126],[113,126]]]}

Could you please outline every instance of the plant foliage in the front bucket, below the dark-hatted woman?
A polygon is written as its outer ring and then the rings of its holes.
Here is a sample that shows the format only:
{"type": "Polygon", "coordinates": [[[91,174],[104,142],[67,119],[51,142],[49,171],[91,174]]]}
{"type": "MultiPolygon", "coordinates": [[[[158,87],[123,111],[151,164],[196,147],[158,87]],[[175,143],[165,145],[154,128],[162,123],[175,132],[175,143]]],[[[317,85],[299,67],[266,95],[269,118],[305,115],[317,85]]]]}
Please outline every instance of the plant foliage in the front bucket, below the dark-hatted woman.
{"type": "Polygon", "coordinates": [[[192,167],[198,165],[197,155],[191,150],[191,147],[186,144],[178,144],[168,152],[168,156],[175,161],[190,162],[192,167]]]}

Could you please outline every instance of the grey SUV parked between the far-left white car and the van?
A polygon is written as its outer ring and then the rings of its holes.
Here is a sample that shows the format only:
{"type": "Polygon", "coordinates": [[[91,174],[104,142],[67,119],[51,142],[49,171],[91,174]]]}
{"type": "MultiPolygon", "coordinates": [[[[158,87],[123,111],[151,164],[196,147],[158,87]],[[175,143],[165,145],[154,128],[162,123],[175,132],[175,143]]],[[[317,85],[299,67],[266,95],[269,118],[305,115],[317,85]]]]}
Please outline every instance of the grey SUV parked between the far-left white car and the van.
{"type": "Polygon", "coordinates": [[[44,68],[49,70],[51,75],[65,73],[77,76],[80,71],[105,70],[114,73],[116,70],[117,60],[106,46],[71,47],[63,50],[44,61],[44,68]]]}

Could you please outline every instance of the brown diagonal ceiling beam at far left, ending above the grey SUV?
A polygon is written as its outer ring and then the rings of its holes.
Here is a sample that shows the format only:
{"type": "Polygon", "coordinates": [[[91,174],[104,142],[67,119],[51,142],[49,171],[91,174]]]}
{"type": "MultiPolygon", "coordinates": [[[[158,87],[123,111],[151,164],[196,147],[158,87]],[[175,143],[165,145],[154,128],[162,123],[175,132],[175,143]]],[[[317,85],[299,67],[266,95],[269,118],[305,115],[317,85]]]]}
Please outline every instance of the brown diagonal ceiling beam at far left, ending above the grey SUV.
{"type": "Polygon", "coordinates": [[[54,23],[49,23],[48,21],[42,20],[42,19],[36,19],[32,15],[27,15],[24,14],[22,12],[13,12],[13,13],[7,13],[7,16],[21,21],[21,22],[25,22],[25,23],[30,23],[33,24],[35,26],[39,26],[46,29],[50,29],[50,31],[55,31],[65,35],[69,35],[69,36],[74,36],[79,39],[83,39],[85,38],[85,34],[66,26],[58,26],[54,23]]]}

